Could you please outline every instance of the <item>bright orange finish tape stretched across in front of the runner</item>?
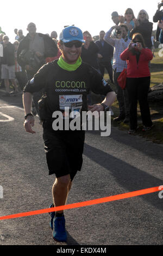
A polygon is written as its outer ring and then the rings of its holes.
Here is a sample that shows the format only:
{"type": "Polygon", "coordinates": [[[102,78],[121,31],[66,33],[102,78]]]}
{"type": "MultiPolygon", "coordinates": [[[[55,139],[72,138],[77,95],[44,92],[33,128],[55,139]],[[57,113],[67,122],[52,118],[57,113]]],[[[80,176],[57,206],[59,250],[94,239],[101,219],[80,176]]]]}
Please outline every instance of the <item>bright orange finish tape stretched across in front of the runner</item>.
{"type": "Polygon", "coordinates": [[[151,188],[146,188],[145,190],[138,190],[138,191],[128,192],[124,194],[117,194],[116,196],[103,197],[103,198],[93,199],[93,200],[80,202],[80,203],[57,206],[54,208],[47,208],[47,209],[36,210],[36,211],[21,212],[20,214],[2,216],[0,217],[0,220],[8,220],[10,218],[20,218],[20,217],[26,217],[26,216],[32,216],[32,215],[38,215],[38,214],[46,214],[47,212],[52,212],[52,211],[61,211],[61,210],[67,210],[67,209],[73,209],[73,208],[80,208],[80,207],[94,205],[94,204],[102,204],[102,203],[121,200],[125,198],[137,197],[137,196],[141,196],[142,194],[154,193],[160,190],[163,190],[163,187],[161,189],[159,189],[159,187],[151,187],[151,188]]]}

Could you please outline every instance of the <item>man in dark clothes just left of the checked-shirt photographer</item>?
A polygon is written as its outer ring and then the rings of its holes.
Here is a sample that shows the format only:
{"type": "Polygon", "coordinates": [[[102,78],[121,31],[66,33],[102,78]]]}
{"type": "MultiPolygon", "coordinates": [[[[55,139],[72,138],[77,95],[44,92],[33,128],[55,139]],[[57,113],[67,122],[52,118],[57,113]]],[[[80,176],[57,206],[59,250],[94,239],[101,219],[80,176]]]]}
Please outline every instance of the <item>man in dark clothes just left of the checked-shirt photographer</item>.
{"type": "Polygon", "coordinates": [[[113,57],[114,48],[104,40],[104,36],[105,36],[104,31],[99,32],[99,40],[95,42],[99,48],[99,54],[100,54],[99,69],[101,71],[102,76],[104,76],[104,70],[106,69],[108,71],[110,81],[111,83],[113,83],[111,60],[113,57]]]}

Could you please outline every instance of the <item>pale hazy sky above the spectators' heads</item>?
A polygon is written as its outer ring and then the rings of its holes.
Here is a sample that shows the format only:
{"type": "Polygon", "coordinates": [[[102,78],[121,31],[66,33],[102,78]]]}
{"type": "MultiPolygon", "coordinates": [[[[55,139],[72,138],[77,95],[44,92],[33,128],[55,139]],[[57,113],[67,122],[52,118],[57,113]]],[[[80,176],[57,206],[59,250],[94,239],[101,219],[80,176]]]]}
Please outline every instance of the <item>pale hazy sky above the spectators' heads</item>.
{"type": "MultiPolygon", "coordinates": [[[[160,1],[161,2],[161,1],[160,1]]],[[[8,0],[1,2],[2,31],[9,35],[10,41],[15,39],[14,28],[23,29],[27,34],[27,25],[30,22],[36,24],[37,32],[51,33],[57,31],[60,34],[65,25],[75,25],[82,31],[89,31],[92,36],[99,31],[109,30],[114,23],[111,20],[112,11],[124,15],[124,11],[131,8],[135,17],[141,9],[145,9],[149,15],[149,21],[153,22],[153,15],[158,8],[158,1],[149,0],[8,0]]],[[[153,23],[156,29],[157,23],[153,23]]]]}

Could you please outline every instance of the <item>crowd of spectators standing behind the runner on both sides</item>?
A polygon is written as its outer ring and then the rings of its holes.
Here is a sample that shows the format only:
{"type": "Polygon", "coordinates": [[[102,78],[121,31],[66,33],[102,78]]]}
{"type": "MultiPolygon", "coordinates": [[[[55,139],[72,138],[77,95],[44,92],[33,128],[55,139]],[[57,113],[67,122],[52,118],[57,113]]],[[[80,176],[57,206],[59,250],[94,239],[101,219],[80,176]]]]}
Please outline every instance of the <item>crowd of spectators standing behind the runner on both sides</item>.
{"type": "MultiPolygon", "coordinates": [[[[146,10],[140,10],[135,17],[134,11],[127,8],[124,16],[113,11],[110,19],[114,23],[108,32],[101,30],[99,39],[94,41],[89,31],[83,32],[85,43],[82,46],[81,58],[104,76],[108,72],[110,83],[115,84],[120,114],[114,121],[130,123],[129,134],[137,130],[137,101],[139,101],[143,131],[152,129],[148,90],[150,86],[150,61],[154,57],[154,40],[163,44],[163,0],[153,16],[158,22],[156,37],[152,36],[153,23],[149,21],[146,10]],[[121,88],[118,78],[126,70],[126,87],[121,88]]],[[[28,34],[22,29],[14,29],[15,41],[0,27],[1,44],[1,88],[3,96],[21,95],[27,81],[47,62],[59,59],[57,32],[51,35],[36,32],[36,25],[29,23],[28,34]],[[12,88],[12,92],[11,92],[12,88]]],[[[42,92],[33,97],[33,113],[42,92]]],[[[95,96],[95,95],[94,95],[95,96]]],[[[103,98],[103,95],[100,95],[103,98]]],[[[92,104],[93,95],[87,95],[88,104],[92,104]]]]}

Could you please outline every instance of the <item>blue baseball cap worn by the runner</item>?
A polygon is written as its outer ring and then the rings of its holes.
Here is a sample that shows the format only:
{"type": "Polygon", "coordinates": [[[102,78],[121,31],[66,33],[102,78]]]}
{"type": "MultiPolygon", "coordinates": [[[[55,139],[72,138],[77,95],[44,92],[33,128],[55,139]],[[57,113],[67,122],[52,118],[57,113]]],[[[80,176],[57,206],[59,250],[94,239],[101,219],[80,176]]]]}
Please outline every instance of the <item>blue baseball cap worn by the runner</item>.
{"type": "Polygon", "coordinates": [[[75,26],[69,26],[64,28],[60,33],[59,39],[62,42],[71,42],[75,40],[85,42],[85,40],[83,39],[82,30],[75,26]]]}

